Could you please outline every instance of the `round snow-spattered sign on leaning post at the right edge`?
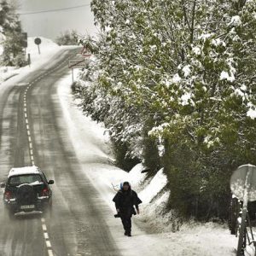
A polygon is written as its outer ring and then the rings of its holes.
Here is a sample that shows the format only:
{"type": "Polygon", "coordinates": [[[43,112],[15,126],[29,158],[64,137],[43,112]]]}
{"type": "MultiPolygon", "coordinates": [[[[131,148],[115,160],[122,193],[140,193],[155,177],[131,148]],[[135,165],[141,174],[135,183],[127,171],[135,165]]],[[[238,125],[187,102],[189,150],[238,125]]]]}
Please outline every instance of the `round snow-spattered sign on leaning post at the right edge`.
{"type": "MultiPolygon", "coordinates": [[[[230,189],[243,202],[241,212],[241,228],[237,246],[237,256],[241,255],[243,239],[247,228],[247,203],[256,201],[256,166],[239,166],[230,178],[230,189]]],[[[253,241],[254,247],[255,242],[253,241]]],[[[255,248],[256,255],[256,248],[255,248]]]]}

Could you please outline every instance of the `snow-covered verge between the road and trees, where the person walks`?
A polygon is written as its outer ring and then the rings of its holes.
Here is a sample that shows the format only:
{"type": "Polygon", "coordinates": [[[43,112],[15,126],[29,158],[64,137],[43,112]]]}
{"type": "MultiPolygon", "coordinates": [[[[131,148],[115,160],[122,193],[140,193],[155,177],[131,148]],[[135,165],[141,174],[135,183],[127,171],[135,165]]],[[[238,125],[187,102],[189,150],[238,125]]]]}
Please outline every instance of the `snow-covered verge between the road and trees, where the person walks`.
{"type": "Polygon", "coordinates": [[[119,219],[113,218],[111,214],[106,217],[113,238],[123,255],[236,255],[237,238],[230,235],[226,226],[191,221],[183,224],[179,231],[172,232],[172,225],[177,226],[175,216],[172,216],[172,212],[161,214],[170,193],[164,190],[166,176],[162,170],[153,179],[144,182],[142,165],[135,166],[129,173],[112,166],[108,132],[104,132],[102,125],[85,117],[77,105],[78,102],[73,101],[70,76],[61,79],[58,84],[61,108],[84,175],[89,177],[98,189],[110,211],[115,213],[112,199],[120,182],[131,182],[143,200],[141,214],[133,218],[134,236],[131,239],[127,240],[127,237],[123,236],[119,219]],[[81,148],[86,148],[86,154],[81,148]],[[103,159],[106,164],[97,165],[96,159],[103,159]],[[94,161],[89,166],[90,160],[94,161]]]}

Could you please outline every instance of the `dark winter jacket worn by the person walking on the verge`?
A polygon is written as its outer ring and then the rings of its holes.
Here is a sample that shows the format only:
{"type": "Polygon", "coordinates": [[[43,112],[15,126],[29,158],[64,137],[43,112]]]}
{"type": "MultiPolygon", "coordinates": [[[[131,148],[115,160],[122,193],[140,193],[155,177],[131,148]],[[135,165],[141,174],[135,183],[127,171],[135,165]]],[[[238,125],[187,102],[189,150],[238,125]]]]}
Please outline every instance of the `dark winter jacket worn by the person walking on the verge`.
{"type": "Polygon", "coordinates": [[[131,188],[127,191],[120,189],[113,197],[113,202],[115,203],[116,209],[119,209],[120,216],[127,218],[131,218],[132,214],[136,214],[133,206],[138,209],[138,205],[142,203],[137,193],[131,190],[131,188]]]}

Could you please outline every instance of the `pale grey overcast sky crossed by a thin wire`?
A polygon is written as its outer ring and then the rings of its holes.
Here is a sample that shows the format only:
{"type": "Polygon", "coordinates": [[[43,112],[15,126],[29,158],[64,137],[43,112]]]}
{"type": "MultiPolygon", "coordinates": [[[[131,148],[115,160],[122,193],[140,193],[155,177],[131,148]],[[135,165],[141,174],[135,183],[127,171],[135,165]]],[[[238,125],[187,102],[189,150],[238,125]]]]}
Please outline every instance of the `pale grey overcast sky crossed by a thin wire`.
{"type": "Polygon", "coordinates": [[[20,15],[23,30],[29,37],[42,36],[55,39],[61,32],[76,30],[82,35],[96,33],[90,0],[16,0],[20,14],[50,9],[65,9],[87,4],[77,9],[67,9],[41,14],[20,15]]]}

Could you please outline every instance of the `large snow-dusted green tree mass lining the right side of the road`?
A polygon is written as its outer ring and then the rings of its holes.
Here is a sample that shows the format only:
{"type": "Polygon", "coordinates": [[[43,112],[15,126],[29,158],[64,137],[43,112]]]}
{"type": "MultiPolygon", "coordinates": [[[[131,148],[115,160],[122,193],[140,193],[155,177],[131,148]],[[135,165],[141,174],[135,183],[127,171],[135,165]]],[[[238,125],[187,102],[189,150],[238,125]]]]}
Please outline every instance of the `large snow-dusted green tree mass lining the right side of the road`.
{"type": "Polygon", "coordinates": [[[84,110],[127,154],[150,163],[153,145],[172,207],[226,217],[231,172],[256,162],[256,1],[93,0],[91,9],[101,33],[81,40],[96,55],[84,110]]]}

